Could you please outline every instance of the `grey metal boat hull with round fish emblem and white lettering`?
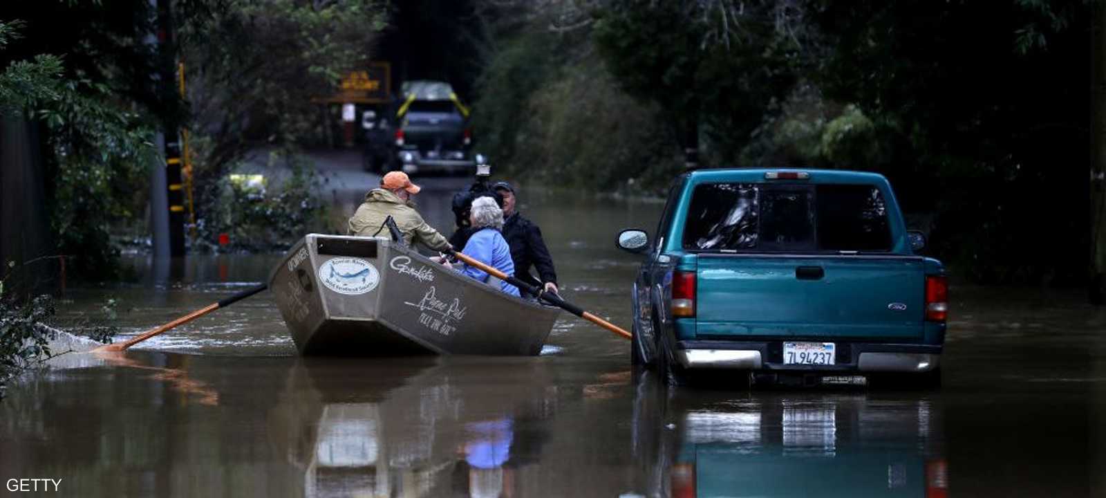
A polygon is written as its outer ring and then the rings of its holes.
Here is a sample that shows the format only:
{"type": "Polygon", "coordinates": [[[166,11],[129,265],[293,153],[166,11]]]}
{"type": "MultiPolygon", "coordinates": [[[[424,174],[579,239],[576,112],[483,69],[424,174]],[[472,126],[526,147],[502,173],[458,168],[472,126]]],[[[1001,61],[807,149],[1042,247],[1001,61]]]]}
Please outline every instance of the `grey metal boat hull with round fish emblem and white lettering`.
{"type": "Polygon", "coordinates": [[[560,312],[383,238],[309,235],[269,286],[303,355],[533,355],[560,312]]]}

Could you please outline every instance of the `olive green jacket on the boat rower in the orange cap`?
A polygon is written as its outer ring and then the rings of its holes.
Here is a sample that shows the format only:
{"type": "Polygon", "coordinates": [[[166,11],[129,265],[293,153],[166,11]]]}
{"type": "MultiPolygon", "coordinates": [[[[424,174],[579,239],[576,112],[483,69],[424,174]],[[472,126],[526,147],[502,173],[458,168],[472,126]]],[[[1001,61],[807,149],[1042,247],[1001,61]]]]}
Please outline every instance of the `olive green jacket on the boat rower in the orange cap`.
{"type": "Polygon", "coordinates": [[[396,220],[396,226],[403,232],[404,243],[407,246],[421,242],[436,251],[449,247],[449,241],[441,234],[438,234],[438,230],[424,221],[411,205],[383,188],[374,188],[365,194],[365,201],[349,218],[349,235],[388,237],[388,228],[380,228],[384,225],[384,219],[388,216],[396,220]]]}

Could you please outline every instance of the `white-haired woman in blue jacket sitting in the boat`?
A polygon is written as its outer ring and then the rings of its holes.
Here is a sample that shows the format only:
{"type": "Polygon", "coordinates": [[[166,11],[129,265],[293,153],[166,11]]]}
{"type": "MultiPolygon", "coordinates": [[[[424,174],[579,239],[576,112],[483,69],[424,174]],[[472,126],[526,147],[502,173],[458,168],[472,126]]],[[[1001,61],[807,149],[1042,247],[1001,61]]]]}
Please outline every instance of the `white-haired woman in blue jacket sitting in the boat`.
{"type": "MultiPolygon", "coordinates": [[[[514,261],[511,260],[511,246],[507,243],[507,239],[500,234],[500,230],[503,228],[503,210],[495,204],[495,199],[491,197],[477,197],[472,201],[472,208],[469,210],[469,221],[476,231],[469,237],[469,241],[465,243],[465,249],[461,252],[465,256],[502,271],[504,274],[514,277],[514,261]]],[[[458,270],[468,277],[497,287],[505,293],[519,297],[519,288],[499,280],[479,268],[461,264],[458,270]]]]}

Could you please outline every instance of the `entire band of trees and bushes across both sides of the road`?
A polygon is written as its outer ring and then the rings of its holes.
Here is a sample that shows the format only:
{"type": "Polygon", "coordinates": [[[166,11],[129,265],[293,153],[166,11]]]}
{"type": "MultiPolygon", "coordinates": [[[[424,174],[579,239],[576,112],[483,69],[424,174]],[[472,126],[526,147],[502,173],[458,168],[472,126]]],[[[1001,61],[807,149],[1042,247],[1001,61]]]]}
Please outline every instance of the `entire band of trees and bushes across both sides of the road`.
{"type": "Polygon", "coordinates": [[[184,97],[148,77],[147,1],[38,3],[0,20],[0,105],[42,145],[39,215],[71,277],[118,274],[111,236],[147,222],[167,122],[189,131],[197,248],[325,219],[310,167],[260,198],[229,175],[257,147],[327,143],[317,97],[394,55],[450,80],[478,149],[525,181],[658,195],[689,160],[874,170],[972,281],[1106,286],[1099,1],[178,0],[184,97]]]}

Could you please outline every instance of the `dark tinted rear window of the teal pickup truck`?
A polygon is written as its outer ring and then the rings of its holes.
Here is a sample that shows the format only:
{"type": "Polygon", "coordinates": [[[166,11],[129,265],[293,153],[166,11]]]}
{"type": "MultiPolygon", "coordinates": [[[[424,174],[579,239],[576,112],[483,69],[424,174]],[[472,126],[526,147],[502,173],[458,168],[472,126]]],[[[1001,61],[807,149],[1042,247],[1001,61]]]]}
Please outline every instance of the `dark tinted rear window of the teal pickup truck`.
{"type": "Polygon", "coordinates": [[[684,248],[888,251],[887,208],[870,185],[702,184],[691,194],[684,248]]]}

